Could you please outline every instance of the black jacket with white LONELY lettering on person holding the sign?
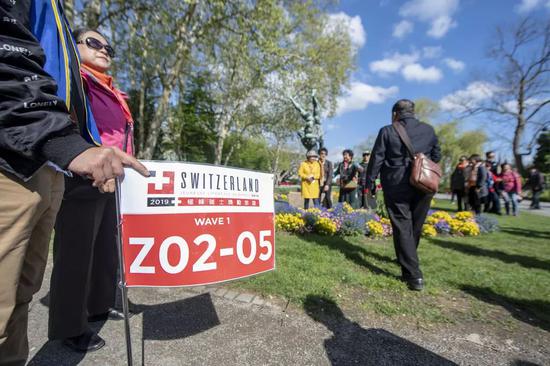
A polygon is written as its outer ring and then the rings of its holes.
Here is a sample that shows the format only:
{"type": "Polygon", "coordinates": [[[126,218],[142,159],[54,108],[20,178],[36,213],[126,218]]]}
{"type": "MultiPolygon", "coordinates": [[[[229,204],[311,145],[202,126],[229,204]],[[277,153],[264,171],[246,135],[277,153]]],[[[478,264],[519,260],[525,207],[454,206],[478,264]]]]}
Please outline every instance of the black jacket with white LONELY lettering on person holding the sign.
{"type": "MultiPolygon", "coordinates": [[[[40,21],[33,20],[31,11],[53,6],[48,4],[0,0],[0,169],[21,179],[29,179],[47,161],[66,168],[92,146],[57,96],[56,82],[44,71],[44,50],[31,32],[33,21],[40,21]]],[[[51,31],[58,34],[57,28],[51,31]]],[[[81,108],[85,103],[82,95],[72,100],[81,108]]]]}

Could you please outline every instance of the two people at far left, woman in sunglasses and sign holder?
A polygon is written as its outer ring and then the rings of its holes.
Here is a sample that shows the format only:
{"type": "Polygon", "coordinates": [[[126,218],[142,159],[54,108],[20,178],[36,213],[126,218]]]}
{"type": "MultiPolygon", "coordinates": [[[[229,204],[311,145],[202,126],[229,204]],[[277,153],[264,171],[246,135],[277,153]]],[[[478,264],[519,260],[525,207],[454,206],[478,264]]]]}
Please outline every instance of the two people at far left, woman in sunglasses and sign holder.
{"type": "Polygon", "coordinates": [[[149,172],[132,156],[107,39],[71,32],[58,1],[0,2],[0,13],[0,365],[24,365],[54,224],[49,338],[76,352],[105,344],[89,323],[122,316],[115,178],[149,172]]]}

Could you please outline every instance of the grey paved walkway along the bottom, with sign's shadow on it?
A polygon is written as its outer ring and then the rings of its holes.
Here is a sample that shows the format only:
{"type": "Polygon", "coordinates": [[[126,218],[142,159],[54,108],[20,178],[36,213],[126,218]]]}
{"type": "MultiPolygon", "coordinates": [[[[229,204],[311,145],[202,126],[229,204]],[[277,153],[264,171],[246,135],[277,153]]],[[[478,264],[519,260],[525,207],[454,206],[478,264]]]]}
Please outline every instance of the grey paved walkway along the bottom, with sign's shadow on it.
{"type": "MultiPolygon", "coordinates": [[[[122,321],[95,323],[107,344],[90,354],[46,342],[50,272],[51,261],[30,309],[29,365],[125,365],[122,321]]],[[[426,328],[363,313],[352,319],[316,296],[308,298],[304,312],[223,286],[136,288],[130,299],[138,311],[131,318],[134,365],[550,364],[548,333],[524,323],[520,330],[529,337],[504,332],[502,339],[498,329],[474,333],[471,325],[426,328]]]]}

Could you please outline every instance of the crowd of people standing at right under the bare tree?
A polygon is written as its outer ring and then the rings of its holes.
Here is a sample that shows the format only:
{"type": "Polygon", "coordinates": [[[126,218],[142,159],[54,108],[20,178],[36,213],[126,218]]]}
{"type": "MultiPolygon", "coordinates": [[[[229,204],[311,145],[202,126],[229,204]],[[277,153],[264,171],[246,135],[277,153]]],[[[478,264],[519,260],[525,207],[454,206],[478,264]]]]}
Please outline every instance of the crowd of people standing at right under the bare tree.
{"type": "Polygon", "coordinates": [[[469,158],[461,156],[451,175],[452,200],[456,198],[458,211],[472,210],[476,214],[490,212],[502,214],[501,200],[506,215],[517,216],[522,192],[532,192],[532,209],[540,209],[540,196],[544,190],[544,176],[535,168],[529,169],[529,177],[523,178],[517,169],[504,162],[499,164],[493,151],[469,158]]]}

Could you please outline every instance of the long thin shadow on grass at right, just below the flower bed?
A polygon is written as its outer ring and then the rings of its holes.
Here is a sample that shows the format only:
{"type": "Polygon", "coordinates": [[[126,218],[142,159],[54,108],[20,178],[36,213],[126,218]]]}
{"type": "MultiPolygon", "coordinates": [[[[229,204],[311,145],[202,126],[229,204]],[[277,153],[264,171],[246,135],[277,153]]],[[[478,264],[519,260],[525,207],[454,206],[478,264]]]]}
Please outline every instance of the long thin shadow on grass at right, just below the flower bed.
{"type": "Polygon", "coordinates": [[[537,268],[550,271],[550,262],[534,257],[528,257],[519,254],[508,254],[500,250],[488,250],[468,244],[457,243],[454,241],[446,241],[443,239],[429,239],[429,241],[439,247],[453,249],[465,254],[498,259],[505,263],[517,263],[525,268],[537,268]]]}

